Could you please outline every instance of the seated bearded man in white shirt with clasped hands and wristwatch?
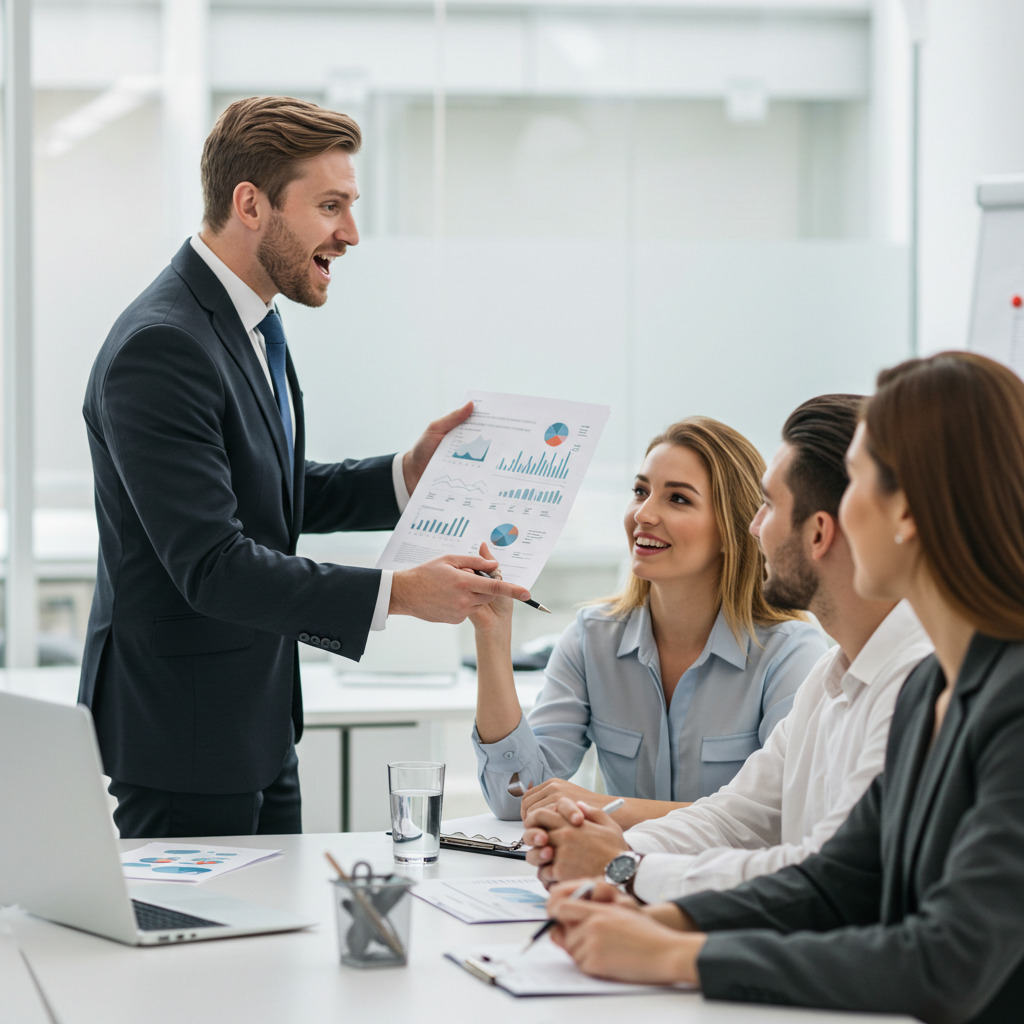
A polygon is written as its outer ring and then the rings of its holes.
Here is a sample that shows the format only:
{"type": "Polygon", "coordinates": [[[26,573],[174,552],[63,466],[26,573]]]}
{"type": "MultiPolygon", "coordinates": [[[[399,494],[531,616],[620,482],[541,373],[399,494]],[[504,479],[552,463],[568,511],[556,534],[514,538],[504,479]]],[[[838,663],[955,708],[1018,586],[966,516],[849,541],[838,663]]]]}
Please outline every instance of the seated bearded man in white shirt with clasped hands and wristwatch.
{"type": "Polygon", "coordinates": [[[837,646],[765,745],[710,797],[625,834],[564,798],[529,813],[527,860],[546,884],[605,871],[646,902],[729,889],[817,851],[881,771],[896,696],[932,647],[905,603],[853,590],[838,516],[859,404],[822,395],[791,415],[751,523],[767,560],[765,596],[813,612],[837,646]]]}

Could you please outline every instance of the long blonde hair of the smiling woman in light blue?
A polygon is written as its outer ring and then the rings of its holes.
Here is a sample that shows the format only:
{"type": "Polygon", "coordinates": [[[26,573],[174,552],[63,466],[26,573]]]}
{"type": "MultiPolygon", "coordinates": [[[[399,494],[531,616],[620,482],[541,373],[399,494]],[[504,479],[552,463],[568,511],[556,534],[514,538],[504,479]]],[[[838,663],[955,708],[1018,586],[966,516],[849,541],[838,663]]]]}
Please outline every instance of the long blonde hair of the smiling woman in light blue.
{"type": "MultiPolygon", "coordinates": [[[[738,430],[708,416],[680,420],[647,445],[648,455],[658,444],[678,444],[694,452],[711,477],[711,501],[715,522],[722,538],[722,571],[718,600],[733,636],[742,640],[754,627],[772,626],[794,618],[800,612],[783,611],[769,604],[762,593],[765,578],[764,555],[750,531],[751,521],[761,507],[761,476],[764,459],[738,430]]],[[[640,607],[650,593],[650,582],[630,573],[620,594],[604,600],[610,615],[626,615],[640,607]]]]}

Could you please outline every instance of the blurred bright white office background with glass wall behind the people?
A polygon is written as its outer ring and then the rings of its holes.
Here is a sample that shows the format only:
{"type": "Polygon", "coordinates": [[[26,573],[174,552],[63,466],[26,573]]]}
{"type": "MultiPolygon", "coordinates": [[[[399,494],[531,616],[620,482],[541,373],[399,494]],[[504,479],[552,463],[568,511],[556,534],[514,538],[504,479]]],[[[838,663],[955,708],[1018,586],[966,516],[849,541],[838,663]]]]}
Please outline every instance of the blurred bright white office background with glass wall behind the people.
{"type": "MultiPolygon", "coordinates": [[[[669,422],[717,417],[767,457],[804,398],[964,345],[975,183],[1024,170],[1020,0],[0,7],[15,666],[77,657],[86,378],[199,225],[202,142],[236,98],[290,93],[365,130],[361,242],[325,307],[284,303],[311,458],[399,450],[468,387],[611,407],[535,587],[556,613],[518,614],[518,640],[615,586],[632,473],[669,422]]],[[[383,544],[304,550],[373,564],[383,544]]]]}

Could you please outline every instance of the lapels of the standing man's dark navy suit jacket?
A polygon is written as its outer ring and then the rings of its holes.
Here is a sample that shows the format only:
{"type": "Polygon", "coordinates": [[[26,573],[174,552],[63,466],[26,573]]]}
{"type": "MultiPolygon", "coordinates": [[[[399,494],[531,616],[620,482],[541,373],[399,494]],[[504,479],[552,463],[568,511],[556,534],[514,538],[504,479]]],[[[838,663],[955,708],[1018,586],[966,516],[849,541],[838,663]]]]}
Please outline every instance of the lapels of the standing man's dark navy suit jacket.
{"type": "MultiPolygon", "coordinates": [[[[239,314],[234,305],[228,298],[216,274],[206,265],[203,258],[191,247],[191,243],[185,242],[171,260],[175,270],[181,275],[185,284],[191,289],[197,301],[210,313],[210,323],[217,336],[220,338],[227,350],[227,353],[234,360],[242,375],[252,388],[253,395],[259,406],[260,413],[266,423],[267,430],[273,440],[273,447],[278,454],[278,463],[281,466],[282,475],[288,484],[289,512],[294,504],[295,480],[290,473],[291,460],[288,457],[288,439],[285,436],[285,427],[281,422],[281,413],[274,401],[273,392],[267,386],[266,375],[260,366],[259,359],[253,351],[252,342],[249,335],[239,319],[239,314]]],[[[295,379],[295,371],[291,366],[289,356],[289,381],[292,385],[293,394],[298,391],[298,382],[295,379]]],[[[300,406],[296,407],[295,419],[298,426],[301,420],[300,406]]],[[[295,465],[299,465],[299,444],[296,439],[295,465]]],[[[293,520],[295,516],[292,516],[293,520]]]]}

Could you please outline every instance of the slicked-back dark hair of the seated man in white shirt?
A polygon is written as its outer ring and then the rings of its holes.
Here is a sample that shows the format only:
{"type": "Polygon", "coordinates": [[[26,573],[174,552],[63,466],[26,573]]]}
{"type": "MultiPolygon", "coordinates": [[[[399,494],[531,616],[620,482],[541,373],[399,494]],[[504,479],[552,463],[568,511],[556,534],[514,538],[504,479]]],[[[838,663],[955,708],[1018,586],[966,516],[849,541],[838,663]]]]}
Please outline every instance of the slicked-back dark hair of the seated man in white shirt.
{"type": "Polygon", "coordinates": [[[860,394],[821,394],[798,406],[785,421],[782,440],[794,453],[785,482],[795,526],[818,511],[839,516],[849,482],[846,452],[863,401],[860,394]]]}

